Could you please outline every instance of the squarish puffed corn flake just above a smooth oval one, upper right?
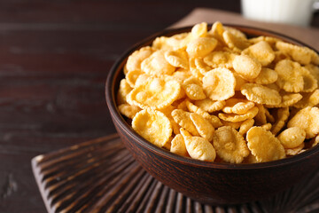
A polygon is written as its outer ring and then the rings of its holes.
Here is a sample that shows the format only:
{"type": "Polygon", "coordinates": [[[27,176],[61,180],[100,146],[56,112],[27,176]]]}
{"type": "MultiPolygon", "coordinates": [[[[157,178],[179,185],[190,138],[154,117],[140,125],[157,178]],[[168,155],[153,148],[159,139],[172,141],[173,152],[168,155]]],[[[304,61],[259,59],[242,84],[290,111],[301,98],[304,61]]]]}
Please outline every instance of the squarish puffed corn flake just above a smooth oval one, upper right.
{"type": "Polygon", "coordinates": [[[242,51],[242,53],[257,59],[259,62],[261,62],[262,67],[268,66],[275,59],[275,52],[265,41],[261,41],[249,46],[242,51]]]}

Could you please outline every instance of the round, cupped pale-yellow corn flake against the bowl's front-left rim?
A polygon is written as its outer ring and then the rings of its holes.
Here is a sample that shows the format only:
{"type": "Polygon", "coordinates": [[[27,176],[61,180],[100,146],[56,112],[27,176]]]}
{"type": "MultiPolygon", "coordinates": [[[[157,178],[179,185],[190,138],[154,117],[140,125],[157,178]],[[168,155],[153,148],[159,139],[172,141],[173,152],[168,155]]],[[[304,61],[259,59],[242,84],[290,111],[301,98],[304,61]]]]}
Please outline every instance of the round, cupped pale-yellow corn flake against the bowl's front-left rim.
{"type": "Polygon", "coordinates": [[[153,145],[164,146],[172,135],[172,126],[165,114],[152,109],[138,112],[132,121],[132,128],[153,145]]]}

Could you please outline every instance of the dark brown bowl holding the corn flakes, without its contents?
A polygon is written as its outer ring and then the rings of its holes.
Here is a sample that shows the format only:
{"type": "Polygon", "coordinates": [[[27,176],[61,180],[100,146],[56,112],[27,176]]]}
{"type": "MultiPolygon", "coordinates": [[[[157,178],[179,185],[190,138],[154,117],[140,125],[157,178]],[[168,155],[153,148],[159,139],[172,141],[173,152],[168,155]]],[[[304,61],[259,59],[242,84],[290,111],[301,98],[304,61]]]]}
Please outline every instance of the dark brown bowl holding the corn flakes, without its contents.
{"type": "MultiPolygon", "coordinates": [[[[227,25],[226,25],[227,26],[227,25]]],[[[228,25],[230,26],[230,25],[228,25]]],[[[290,37],[258,28],[230,26],[247,36],[275,36],[290,43],[290,37]]],[[[319,146],[302,154],[274,162],[230,164],[200,162],[172,154],[140,137],[121,116],[116,106],[116,93],[124,77],[122,68],[128,55],[149,45],[157,36],[173,36],[189,32],[189,28],[168,29],[145,39],[121,55],[113,65],[105,86],[106,103],[122,142],[152,177],[193,200],[208,204],[234,204],[256,201],[295,185],[319,167],[319,146]]]]}

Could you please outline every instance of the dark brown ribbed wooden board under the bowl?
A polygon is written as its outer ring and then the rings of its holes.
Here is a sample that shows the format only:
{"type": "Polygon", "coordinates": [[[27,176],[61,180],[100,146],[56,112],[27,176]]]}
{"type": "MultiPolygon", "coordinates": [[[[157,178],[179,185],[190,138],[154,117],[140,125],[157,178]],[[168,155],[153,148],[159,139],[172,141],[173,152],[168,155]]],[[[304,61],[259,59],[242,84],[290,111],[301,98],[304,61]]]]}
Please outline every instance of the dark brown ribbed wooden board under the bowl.
{"type": "Polygon", "coordinates": [[[192,201],[151,177],[117,135],[35,157],[48,212],[276,213],[319,210],[319,172],[284,193],[232,206],[192,201]]]}

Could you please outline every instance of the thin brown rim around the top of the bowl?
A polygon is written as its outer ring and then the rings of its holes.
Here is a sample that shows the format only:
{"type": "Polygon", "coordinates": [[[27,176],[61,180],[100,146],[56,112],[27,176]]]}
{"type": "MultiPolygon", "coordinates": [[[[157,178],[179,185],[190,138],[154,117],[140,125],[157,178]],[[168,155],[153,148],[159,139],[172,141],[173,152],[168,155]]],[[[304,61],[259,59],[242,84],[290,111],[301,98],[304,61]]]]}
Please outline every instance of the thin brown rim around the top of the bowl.
{"type": "MultiPolygon", "coordinates": [[[[212,26],[212,24],[209,24],[209,23],[208,25],[212,26]]],[[[306,43],[300,42],[299,40],[294,39],[290,36],[285,36],[283,34],[276,33],[268,29],[255,28],[255,27],[243,26],[243,25],[235,25],[235,24],[227,24],[227,23],[223,23],[223,26],[237,28],[239,30],[244,29],[245,33],[247,32],[248,33],[250,32],[251,34],[262,33],[263,34],[262,36],[276,36],[285,40],[286,42],[296,43],[302,46],[306,46],[319,54],[318,51],[316,51],[314,48],[311,48],[306,43]]],[[[133,130],[130,125],[128,125],[128,122],[125,121],[120,111],[118,110],[118,107],[116,106],[116,94],[115,94],[116,88],[115,88],[115,82],[113,81],[113,79],[116,79],[118,75],[121,75],[121,69],[125,64],[124,62],[126,62],[128,56],[133,51],[136,51],[136,49],[139,49],[145,46],[146,43],[151,43],[158,36],[174,35],[177,33],[190,31],[192,27],[193,26],[186,26],[183,28],[167,28],[167,29],[161,30],[153,34],[152,36],[148,36],[144,38],[141,42],[132,45],[130,48],[124,51],[118,59],[116,59],[116,61],[113,63],[113,67],[111,67],[110,72],[107,75],[106,82],[105,82],[106,105],[108,106],[109,111],[111,115],[113,116],[113,122],[117,122],[118,127],[121,128],[121,130],[125,131],[128,134],[128,137],[133,138],[134,141],[136,141],[136,143],[138,143],[139,146],[143,146],[145,149],[151,151],[152,153],[158,154],[161,157],[166,158],[168,160],[179,162],[182,164],[188,164],[195,167],[204,167],[209,169],[224,169],[224,170],[228,170],[228,169],[255,170],[255,169],[264,169],[264,168],[275,168],[279,166],[289,165],[295,162],[303,162],[303,161],[306,161],[308,158],[312,157],[313,155],[319,154],[319,146],[315,146],[306,150],[303,153],[296,154],[294,156],[290,156],[281,160],[271,161],[271,162],[257,162],[257,163],[203,162],[196,159],[191,159],[189,157],[183,157],[178,154],[173,154],[166,149],[153,145],[146,139],[139,136],[136,133],[136,131],[133,130]]]]}

